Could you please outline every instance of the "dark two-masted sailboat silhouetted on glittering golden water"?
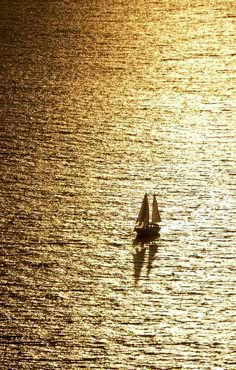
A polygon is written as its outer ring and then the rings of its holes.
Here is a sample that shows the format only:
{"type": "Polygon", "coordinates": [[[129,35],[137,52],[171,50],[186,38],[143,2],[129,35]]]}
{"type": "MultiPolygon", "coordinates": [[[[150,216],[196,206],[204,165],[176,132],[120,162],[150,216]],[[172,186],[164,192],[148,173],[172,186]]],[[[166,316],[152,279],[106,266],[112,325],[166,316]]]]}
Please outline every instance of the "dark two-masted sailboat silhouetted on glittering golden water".
{"type": "Polygon", "coordinates": [[[149,222],[149,202],[147,193],[144,195],[134,230],[138,236],[155,236],[160,231],[158,222],[161,221],[156,195],[153,195],[152,220],[149,222]]]}

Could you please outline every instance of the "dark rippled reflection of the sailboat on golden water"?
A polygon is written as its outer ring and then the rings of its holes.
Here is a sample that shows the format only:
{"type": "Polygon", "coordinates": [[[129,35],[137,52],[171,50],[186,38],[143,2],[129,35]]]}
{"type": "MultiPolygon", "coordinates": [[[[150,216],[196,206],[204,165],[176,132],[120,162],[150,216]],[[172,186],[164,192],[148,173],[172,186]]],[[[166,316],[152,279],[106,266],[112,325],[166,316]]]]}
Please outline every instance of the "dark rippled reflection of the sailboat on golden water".
{"type": "Polygon", "coordinates": [[[146,251],[148,251],[148,260],[147,260],[147,272],[146,276],[148,277],[152,269],[153,261],[156,259],[157,253],[157,240],[160,238],[160,234],[157,234],[155,237],[136,237],[133,240],[133,262],[134,262],[134,282],[135,285],[138,284],[138,281],[141,276],[141,271],[145,261],[146,251]]]}

